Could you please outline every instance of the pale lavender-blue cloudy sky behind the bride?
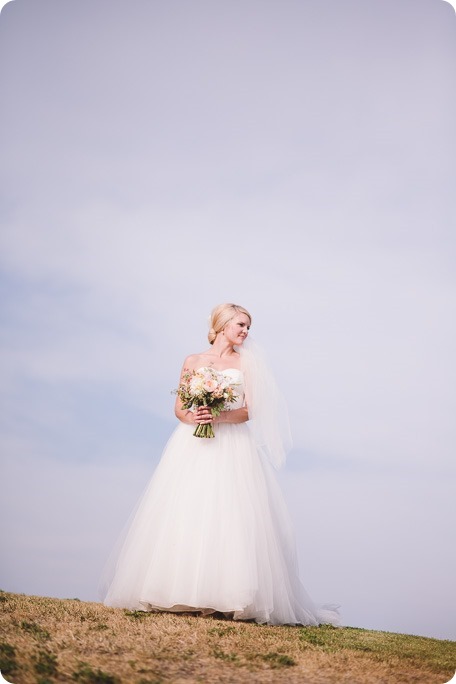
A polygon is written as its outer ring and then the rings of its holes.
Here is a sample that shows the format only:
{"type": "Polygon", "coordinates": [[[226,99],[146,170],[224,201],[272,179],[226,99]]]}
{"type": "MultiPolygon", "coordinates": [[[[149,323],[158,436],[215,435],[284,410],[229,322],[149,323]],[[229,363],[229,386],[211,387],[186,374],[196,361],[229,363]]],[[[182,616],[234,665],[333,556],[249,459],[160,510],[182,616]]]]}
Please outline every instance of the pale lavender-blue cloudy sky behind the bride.
{"type": "Polygon", "coordinates": [[[12,0],[0,92],[0,587],[98,600],[234,301],[306,589],[456,639],[451,4],[12,0]]]}

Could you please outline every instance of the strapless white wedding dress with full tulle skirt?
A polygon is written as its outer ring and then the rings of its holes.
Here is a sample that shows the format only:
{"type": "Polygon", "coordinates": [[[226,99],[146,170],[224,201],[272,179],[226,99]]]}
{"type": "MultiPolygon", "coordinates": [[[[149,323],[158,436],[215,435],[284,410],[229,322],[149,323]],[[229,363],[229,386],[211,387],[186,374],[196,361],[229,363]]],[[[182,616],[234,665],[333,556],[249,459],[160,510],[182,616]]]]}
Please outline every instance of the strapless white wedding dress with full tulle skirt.
{"type": "MultiPolygon", "coordinates": [[[[243,404],[243,374],[223,371],[243,404]]],[[[273,625],[338,624],[298,576],[294,534],[273,467],[249,424],[180,423],[139,502],[104,597],[146,611],[226,613],[273,625]]]]}

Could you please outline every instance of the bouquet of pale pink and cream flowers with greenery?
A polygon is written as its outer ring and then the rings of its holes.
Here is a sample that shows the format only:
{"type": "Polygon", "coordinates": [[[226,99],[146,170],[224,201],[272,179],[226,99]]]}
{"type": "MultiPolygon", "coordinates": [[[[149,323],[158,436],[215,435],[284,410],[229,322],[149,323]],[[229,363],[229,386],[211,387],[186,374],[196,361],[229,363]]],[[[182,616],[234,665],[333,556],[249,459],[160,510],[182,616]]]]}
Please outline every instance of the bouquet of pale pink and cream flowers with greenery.
{"type": "MultiPolygon", "coordinates": [[[[228,404],[238,398],[232,384],[223,373],[213,368],[201,368],[197,371],[184,368],[181,384],[174,393],[181,400],[183,409],[192,410],[195,406],[208,406],[214,417],[219,416],[228,404]]],[[[197,425],[193,435],[215,437],[210,423],[197,425]]]]}

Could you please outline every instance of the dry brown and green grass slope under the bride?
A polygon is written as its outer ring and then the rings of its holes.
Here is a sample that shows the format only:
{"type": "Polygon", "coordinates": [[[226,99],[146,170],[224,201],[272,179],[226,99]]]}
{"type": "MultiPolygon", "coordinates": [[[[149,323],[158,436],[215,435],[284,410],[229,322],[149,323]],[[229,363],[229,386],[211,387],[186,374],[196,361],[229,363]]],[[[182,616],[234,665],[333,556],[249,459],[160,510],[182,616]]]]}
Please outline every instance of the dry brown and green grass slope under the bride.
{"type": "Polygon", "coordinates": [[[456,643],[268,627],[0,593],[0,669],[14,684],[443,684],[456,643]]]}

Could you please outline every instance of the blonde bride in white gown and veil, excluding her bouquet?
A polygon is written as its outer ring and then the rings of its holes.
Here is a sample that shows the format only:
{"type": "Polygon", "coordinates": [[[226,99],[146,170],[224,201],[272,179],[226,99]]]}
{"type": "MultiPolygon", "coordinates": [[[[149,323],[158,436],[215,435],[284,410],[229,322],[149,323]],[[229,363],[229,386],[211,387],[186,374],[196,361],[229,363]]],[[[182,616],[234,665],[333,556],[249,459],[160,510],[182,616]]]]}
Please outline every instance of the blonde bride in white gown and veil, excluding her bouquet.
{"type": "Polygon", "coordinates": [[[211,347],[185,359],[181,381],[188,370],[211,368],[236,400],[214,417],[209,407],[184,409],[177,396],[180,424],[117,553],[105,605],[272,625],[339,623],[337,607],[315,605],[298,576],[273,468],[285,456],[285,413],[261,353],[246,342],[251,320],[241,306],[217,306],[211,347]],[[214,438],[193,435],[209,424],[214,438]]]}

